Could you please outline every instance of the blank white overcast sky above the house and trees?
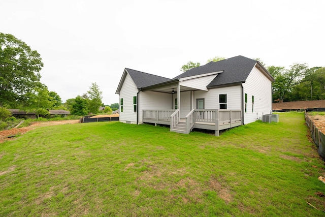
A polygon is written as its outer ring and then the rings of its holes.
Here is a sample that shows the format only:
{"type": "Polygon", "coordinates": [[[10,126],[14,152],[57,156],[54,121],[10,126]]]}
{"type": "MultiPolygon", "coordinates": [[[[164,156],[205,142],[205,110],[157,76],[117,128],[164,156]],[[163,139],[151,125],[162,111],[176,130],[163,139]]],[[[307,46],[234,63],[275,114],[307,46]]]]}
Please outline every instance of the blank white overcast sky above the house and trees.
{"type": "Polygon", "coordinates": [[[1,0],[0,32],[41,54],[41,81],[63,102],[96,82],[110,105],[124,68],[173,78],[189,60],[237,55],[325,67],[324,11],[323,0],[1,0]]]}

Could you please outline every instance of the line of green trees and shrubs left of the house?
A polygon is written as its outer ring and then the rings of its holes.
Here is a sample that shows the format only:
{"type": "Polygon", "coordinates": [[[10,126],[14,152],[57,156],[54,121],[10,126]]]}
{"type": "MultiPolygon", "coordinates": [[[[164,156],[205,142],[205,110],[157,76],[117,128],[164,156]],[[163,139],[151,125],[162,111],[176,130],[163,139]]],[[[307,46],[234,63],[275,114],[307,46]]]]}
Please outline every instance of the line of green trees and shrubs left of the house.
{"type": "MultiPolygon", "coordinates": [[[[11,34],[0,33],[0,107],[48,115],[49,109],[66,109],[75,115],[99,113],[102,91],[94,82],[86,94],[62,103],[55,91],[41,83],[41,55],[11,34]]],[[[118,109],[118,103],[104,112],[118,109]]]]}

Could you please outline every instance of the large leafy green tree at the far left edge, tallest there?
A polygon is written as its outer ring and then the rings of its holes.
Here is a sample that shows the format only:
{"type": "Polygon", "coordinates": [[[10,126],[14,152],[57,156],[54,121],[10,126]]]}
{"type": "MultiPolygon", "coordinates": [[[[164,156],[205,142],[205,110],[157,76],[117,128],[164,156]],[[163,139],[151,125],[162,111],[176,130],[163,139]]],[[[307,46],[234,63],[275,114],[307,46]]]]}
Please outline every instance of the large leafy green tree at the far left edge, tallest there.
{"type": "Polygon", "coordinates": [[[41,82],[42,58],[13,35],[0,33],[0,104],[16,106],[41,82]]]}

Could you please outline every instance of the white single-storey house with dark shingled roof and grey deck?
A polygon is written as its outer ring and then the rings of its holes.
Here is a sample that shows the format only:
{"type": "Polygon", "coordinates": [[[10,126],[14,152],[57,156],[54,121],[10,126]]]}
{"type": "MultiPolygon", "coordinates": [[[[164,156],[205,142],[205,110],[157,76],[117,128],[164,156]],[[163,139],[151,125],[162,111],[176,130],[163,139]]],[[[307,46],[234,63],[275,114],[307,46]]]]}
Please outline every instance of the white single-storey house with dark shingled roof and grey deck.
{"type": "Polygon", "coordinates": [[[116,94],[120,121],[165,124],[188,134],[247,124],[272,111],[271,74],[254,59],[235,56],[173,79],[124,69],[116,94]]]}

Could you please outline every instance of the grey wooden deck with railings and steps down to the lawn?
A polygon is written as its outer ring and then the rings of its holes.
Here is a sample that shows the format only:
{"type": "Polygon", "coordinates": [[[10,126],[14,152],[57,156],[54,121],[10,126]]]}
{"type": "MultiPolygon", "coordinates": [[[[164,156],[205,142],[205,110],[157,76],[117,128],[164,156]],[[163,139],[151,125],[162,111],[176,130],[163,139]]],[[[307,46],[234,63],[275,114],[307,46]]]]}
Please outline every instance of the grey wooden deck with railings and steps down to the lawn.
{"type": "Polygon", "coordinates": [[[179,109],[143,110],[143,122],[155,125],[170,125],[172,132],[189,134],[192,129],[219,131],[242,125],[241,110],[193,109],[185,118],[180,118],[179,109]]]}

